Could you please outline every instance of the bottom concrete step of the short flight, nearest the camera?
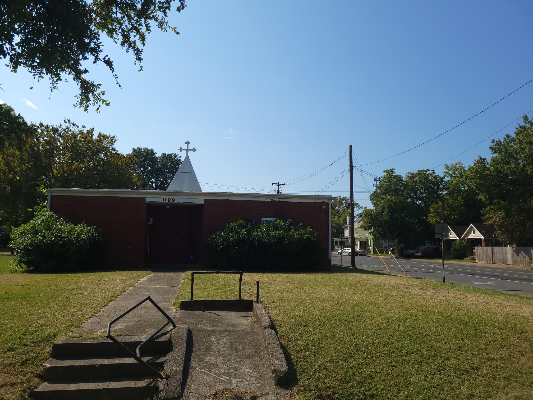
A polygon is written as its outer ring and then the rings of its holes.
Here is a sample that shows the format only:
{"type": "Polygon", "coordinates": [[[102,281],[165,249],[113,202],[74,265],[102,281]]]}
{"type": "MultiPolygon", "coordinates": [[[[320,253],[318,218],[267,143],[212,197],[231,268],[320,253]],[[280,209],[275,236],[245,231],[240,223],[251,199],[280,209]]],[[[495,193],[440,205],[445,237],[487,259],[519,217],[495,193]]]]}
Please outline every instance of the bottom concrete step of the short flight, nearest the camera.
{"type": "Polygon", "coordinates": [[[145,400],[156,394],[155,379],[116,379],[105,382],[45,382],[33,391],[32,396],[36,400],[145,400]]]}

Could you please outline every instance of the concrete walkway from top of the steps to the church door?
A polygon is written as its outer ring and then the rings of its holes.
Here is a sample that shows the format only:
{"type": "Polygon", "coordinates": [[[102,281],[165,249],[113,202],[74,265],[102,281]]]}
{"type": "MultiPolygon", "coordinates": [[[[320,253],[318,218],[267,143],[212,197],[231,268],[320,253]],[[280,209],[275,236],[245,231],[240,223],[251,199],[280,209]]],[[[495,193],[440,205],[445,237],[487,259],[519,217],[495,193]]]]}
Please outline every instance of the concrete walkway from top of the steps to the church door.
{"type": "MultiPolygon", "coordinates": [[[[71,332],[72,335],[106,333],[107,324],[142,299],[150,296],[170,317],[174,317],[173,306],[177,291],[183,279],[182,272],[154,272],[142,278],[135,286],[109,302],[91,319],[71,332]]],[[[153,333],[165,322],[165,317],[149,301],[115,322],[111,327],[113,335],[147,335],[153,333]]],[[[168,330],[172,326],[167,327],[168,330]]],[[[165,331],[165,330],[164,330],[165,331]]],[[[165,332],[161,332],[165,333],[165,332]]]]}

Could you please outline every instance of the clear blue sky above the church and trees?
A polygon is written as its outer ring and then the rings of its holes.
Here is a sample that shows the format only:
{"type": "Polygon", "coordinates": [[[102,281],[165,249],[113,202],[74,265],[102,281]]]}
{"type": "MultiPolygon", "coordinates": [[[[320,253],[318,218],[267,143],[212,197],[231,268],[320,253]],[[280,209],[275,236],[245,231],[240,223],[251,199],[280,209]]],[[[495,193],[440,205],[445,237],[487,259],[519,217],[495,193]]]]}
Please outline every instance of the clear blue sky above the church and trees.
{"type": "MultiPolygon", "coordinates": [[[[131,54],[105,42],[122,89],[104,66],[89,66],[111,102],[100,114],[72,107],[74,84],[50,95],[46,81],[7,67],[0,99],[27,121],[70,118],[114,134],[124,153],[136,146],[178,153],[189,140],[200,182],[266,191],[326,166],[350,144],[360,164],[397,154],[533,78],[531,2],[187,4],[170,15],[181,35],[149,36],[142,72],[131,54]]],[[[363,169],[431,169],[532,109],[533,82],[442,137],[363,169]]],[[[489,143],[450,162],[487,157],[489,143]]],[[[347,166],[344,157],[284,193],[313,194],[347,166]]],[[[325,194],[344,190],[348,175],[325,194]]],[[[368,193],[355,198],[370,206],[368,193]]]]}

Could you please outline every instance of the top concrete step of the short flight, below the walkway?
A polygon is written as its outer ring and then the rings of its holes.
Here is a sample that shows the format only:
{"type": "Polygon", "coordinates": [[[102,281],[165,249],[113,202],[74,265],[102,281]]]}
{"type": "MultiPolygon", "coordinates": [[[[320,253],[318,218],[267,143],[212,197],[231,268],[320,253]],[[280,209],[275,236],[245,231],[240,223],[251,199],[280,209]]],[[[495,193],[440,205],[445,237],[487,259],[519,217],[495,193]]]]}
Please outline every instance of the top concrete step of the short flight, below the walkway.
{"type": "MultiPolygon", "coordinates": [[[[149,335],[123,335],[117,336],[119,340],[128,349],[135,353],[135,349],[149,335]]],[[[170,346],[170,335],[161,335],[157,339],[152,339],[142,347],[142,354],[166,354],[170,346]]],[[[52,346],[53,358],[60,357],[91,357],[91,356],[124,356],[126,351],[107,338],[71,338],[60,339],[52,346]]]]}

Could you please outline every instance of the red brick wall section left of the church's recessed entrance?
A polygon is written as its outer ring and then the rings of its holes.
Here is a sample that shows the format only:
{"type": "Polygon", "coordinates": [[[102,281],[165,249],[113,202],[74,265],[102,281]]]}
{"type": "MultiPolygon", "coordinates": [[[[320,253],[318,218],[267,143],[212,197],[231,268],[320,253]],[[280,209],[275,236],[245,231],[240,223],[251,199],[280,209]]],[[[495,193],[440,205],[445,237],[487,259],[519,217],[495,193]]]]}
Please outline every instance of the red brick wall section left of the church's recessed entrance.
{"type": "Polygon", "coordinates": [[[145,263],[146,201],[142,197],[56,196],[50,211],[73,222],[101,230],[108,267],[138,267],[145,263]]]}

